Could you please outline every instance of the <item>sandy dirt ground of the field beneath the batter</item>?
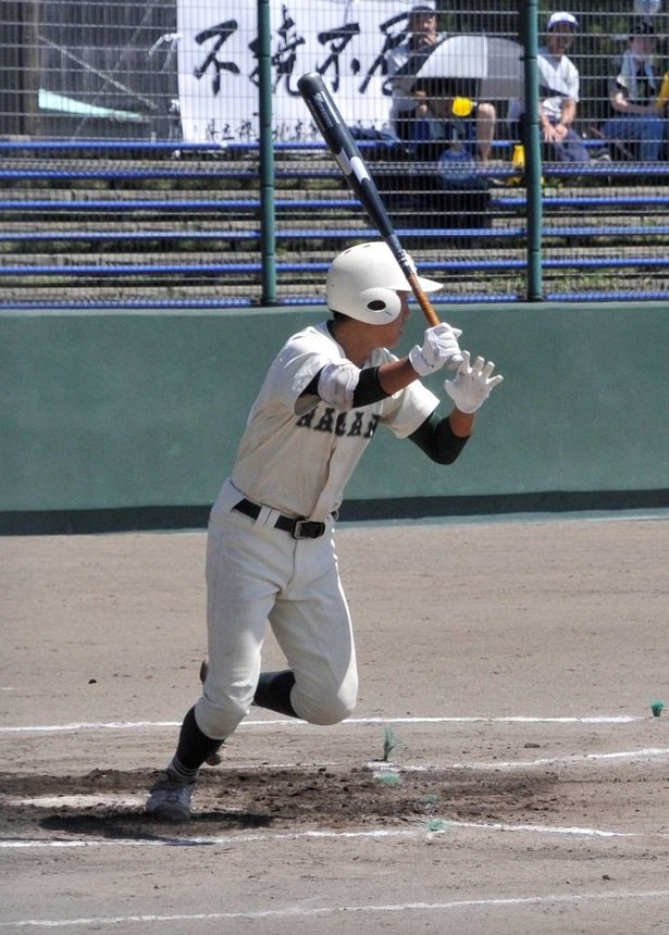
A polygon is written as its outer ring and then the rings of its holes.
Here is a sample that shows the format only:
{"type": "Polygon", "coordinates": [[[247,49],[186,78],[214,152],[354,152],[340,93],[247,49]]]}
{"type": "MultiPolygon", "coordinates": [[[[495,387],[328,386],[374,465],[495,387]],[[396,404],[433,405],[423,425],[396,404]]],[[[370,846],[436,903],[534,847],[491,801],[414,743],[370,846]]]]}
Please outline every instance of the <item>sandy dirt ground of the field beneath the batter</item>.
{"type": "Polygon", "coordinates": [[[355,715],[252,709],[170,825],[205,534],[0,538],[0,932],[669,932],[669,518],[337,543],[355,715]]]}

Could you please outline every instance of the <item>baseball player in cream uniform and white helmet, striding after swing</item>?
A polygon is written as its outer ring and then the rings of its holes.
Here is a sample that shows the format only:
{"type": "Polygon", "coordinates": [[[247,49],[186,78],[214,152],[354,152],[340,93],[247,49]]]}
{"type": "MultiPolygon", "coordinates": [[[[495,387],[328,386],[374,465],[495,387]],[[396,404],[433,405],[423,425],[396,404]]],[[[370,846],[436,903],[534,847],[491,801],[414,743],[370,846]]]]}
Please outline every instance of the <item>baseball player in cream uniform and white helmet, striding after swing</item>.
{"type": "MultiPolygon", "coordinates": [[[[442,288],[420,282],[426,292],[442,288]]],[[[461,332],[447,324],[428,328],[407,357],[388,350],[410,310],[406,277],[383,242],[335,257],[326,295],[332,319],[293,335],[271,364],[211,511],[209,668],[147,800],[162,819],[189,818],[200,766],[251,705],[311,724],[350,715],[358,674],[333,537],[346,483],[381,425],[453,463],[501,382],[492,362],[460,350],[461,332]],[[456,371],[445,383],[454,402],[446,416],[420,382],[444,366],[456,371]],[[260,671],[268,621],[284,671],[260,671]]]]}

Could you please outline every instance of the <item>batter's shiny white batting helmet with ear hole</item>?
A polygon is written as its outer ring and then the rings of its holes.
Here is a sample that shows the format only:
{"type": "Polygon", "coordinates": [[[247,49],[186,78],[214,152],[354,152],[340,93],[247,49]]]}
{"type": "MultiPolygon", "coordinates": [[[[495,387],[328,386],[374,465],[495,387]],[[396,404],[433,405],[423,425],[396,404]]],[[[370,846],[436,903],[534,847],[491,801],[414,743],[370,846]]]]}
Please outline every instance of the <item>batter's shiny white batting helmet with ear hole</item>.
{"type": "MultiPolygon", "coordinates": [[[[409,257],[413,270],[416,265],[409,257]]],[[[419,276],[425,292],[442,289],[441,283],[419,276]]],[[[338,253],[327,271],[327,308],[369,325],[394,322],[401,310],[398,291],[410,291],[407,277],[387,244],[359,244],[338,253]]]]}

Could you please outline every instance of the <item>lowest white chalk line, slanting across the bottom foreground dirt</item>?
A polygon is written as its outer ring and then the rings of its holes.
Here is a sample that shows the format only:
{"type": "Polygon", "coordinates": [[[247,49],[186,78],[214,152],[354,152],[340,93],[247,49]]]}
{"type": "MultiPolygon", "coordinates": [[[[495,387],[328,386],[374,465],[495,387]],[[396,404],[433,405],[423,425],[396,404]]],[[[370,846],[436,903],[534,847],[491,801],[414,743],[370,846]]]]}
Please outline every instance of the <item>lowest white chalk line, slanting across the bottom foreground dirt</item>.
{"type": "Polygon", "coordinates": [[[100,926],[122,925],[129,923],[149,924],[164,922],[224,922],[236,919],[262,920],[262,919],[315,919],[324,915],[336,915],[343,913],[358,912],[360,914],[377,914],[385,912],[447,912],[455,909],[506,909],[522,906],[547,906],[547,905],[579,905],[584,902],[603,902],[611,899],[646,900],[667,899],[669,890],[648,889],[629,890],[620,889],[608,893],[552,893],[545,896],[518,896],[503,897],[498,899],[454,899],[448,902],[391,902],[377,905],[354,905],[354,906],[288,906],[285,909],[263,909],[256,912],[197,912],[193,914],[178,913],[170,915],[112,915],[91,917],[80,919],[22,919],[14,922],[0,922],[0,928],[63,928],[66,926],[100,926]]]}

